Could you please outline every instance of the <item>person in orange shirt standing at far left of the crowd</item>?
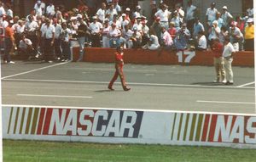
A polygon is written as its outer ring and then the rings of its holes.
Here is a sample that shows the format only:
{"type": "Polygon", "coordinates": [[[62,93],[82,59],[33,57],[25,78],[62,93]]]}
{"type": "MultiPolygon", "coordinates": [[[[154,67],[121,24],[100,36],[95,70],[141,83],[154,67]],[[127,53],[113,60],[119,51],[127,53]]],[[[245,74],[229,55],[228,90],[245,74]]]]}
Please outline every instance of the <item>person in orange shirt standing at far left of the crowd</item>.
{"type": "Polygon", "coordinates": [[[15,36],[14,31],[12,29],[12,23],[9,22],[9,25],[4,29],[4,55],[3,62],[7,64],[15,64],[15,62],[11,61],[10,53],[15,47],[15,36]]]}

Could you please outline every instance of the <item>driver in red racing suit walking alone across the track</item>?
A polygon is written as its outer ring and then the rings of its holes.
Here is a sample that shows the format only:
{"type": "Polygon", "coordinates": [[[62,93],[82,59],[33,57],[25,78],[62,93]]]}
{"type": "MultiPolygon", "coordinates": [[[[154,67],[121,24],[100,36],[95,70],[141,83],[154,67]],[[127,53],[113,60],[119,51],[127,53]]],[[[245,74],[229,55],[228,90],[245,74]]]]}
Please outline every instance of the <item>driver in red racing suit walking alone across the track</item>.
{"type": "Polygon", "coordinates": [[[108,84],[108,89],[111,91],[114,90],[113,83],[119,77],[124,91],[130,91],[131,88],[127,87],[127,85],[125,83],[125,75],[123,72],[123,67],[125,64],[124,63],[124,47],[123,46],[117,47],[116,53],[114,53],[114,54],[115,54],[115,72],[114,72],[112,80],[108,84]]]}

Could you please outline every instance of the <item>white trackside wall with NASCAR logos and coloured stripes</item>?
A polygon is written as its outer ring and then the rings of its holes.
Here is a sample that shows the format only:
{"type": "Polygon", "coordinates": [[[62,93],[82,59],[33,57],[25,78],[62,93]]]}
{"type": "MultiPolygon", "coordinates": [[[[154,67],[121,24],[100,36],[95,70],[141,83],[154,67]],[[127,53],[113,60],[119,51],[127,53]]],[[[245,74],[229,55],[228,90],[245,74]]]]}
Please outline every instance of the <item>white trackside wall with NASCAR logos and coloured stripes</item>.
{"type": "Polygon", "coordinates": [[[3,138],[256,148],[256,115],[3,105],[3,138]]]}

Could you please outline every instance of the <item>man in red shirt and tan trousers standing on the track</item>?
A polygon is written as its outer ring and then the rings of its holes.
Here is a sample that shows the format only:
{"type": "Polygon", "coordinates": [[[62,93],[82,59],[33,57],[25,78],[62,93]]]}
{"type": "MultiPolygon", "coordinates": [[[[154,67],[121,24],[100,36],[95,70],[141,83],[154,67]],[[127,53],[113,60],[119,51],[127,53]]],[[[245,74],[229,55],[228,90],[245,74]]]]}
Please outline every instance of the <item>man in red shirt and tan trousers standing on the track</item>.
{"type": "Polygon", "coordinates": [[[216,71],[216,80],[214,82],[225,82],[224,58],[222,57],[224,45],[218,39],[214,39],[211,48],[216,71]]]}

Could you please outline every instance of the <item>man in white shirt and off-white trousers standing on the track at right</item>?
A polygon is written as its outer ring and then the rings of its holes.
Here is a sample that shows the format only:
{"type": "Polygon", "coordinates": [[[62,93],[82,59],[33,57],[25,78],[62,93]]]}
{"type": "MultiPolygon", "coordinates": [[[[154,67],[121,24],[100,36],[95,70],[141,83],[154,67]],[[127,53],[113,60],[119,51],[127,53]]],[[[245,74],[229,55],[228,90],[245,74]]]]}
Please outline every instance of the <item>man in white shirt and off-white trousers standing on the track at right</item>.
{"type": "Polygon", "coordinates": [[[225,85],[234,84],[233,71],[232,71],[232,66],[231,66],[234,53],[236,53],[235,48],[230,43],[230,39],[226,38],[224,41],[224,51],[222,53],[222,56],[224,57],[224,69],[225,69],[226,80],[227,80],[225,85]]]}

